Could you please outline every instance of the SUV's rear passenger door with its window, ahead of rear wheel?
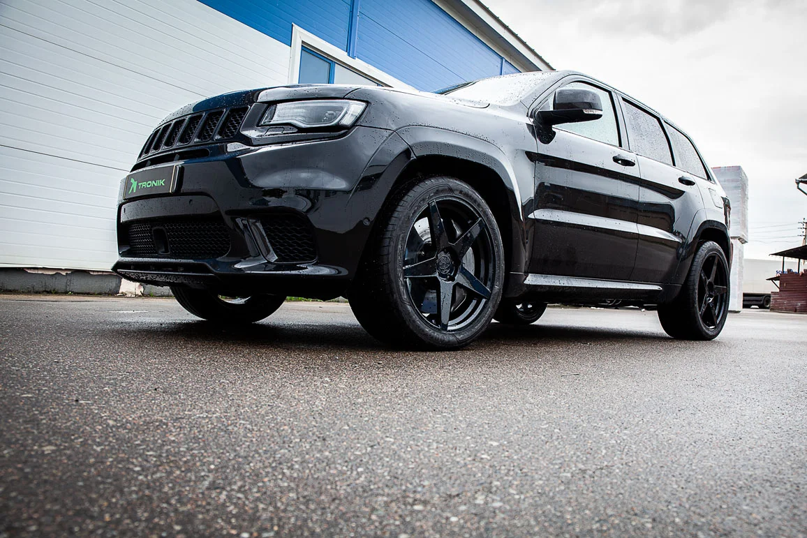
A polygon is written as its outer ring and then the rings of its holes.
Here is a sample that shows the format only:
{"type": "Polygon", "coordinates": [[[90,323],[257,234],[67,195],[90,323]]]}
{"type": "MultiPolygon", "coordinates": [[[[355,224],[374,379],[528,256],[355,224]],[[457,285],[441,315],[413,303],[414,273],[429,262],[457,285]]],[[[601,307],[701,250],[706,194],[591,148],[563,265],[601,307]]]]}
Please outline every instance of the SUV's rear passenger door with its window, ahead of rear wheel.
{"type": "Polygon", "coordinates": [[[621,105],[630,148],[642,172],[638,250],[631,280],[671,282],[702,203],[700,191],[692,173],[676,168],[659,116],[628,98],[621,98],[621,105]]]}

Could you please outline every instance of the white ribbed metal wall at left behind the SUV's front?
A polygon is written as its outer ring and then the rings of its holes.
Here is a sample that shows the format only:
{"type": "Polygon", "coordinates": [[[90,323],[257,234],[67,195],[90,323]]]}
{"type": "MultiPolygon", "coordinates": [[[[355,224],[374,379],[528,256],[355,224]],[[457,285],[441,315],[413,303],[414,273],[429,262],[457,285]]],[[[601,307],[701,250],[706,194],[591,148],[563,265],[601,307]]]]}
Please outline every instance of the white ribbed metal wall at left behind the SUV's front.
{"type": "Polygon", "coordinates": [[[196,0],[2,0],[0,266],[110,269],[120,179],[153,127],[286,83],[290,56],[196,0]]]}

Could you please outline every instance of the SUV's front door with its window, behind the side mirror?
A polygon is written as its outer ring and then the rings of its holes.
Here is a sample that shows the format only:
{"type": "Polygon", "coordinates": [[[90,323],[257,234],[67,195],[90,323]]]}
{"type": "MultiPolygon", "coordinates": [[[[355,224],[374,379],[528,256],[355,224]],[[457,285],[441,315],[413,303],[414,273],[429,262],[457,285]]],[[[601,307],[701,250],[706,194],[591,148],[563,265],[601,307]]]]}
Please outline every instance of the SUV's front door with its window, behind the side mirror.
{"type": "MultiPolygon", "coordinates": [[[[611,90],[590,81],[562,87],[594,90],[603,115],[539,136],[530,273],[625,281],[637,248],[636,156],[625,146],[611,90]],[[541,140],[542,139],[542,140],[541,140]]],[[[554,94],[541,108],[551,107],[554,94]]]]}

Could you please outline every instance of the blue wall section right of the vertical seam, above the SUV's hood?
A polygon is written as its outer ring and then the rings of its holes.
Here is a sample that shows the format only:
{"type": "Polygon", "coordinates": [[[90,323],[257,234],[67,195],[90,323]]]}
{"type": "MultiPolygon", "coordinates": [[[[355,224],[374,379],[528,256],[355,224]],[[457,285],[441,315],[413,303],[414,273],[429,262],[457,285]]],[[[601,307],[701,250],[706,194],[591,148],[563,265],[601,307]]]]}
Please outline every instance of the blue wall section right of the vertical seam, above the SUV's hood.
{"type": "Polygon", "coordinates": [[[498,75],[501,56],[430,0],[361,0],[356,57],[419,90],[498,75]]]}

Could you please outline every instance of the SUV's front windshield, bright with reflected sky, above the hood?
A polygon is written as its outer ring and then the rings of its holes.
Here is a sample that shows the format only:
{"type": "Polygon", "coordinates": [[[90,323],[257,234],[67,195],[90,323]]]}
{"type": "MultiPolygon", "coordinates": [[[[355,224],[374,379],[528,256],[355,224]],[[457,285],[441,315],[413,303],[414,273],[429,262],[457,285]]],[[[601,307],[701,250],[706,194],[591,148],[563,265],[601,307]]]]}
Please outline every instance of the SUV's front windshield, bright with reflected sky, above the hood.
{"type": "Polygon", "coordinates": [[[479,81],[462,82],[449,88],[437,90],[435,94],[468,99],[470,101],[491,102],[496,105],[515,105],[538,85],[557,75],[554,71],[533,71],[514,73],[502,77],[483,78],[479,81]]]}

